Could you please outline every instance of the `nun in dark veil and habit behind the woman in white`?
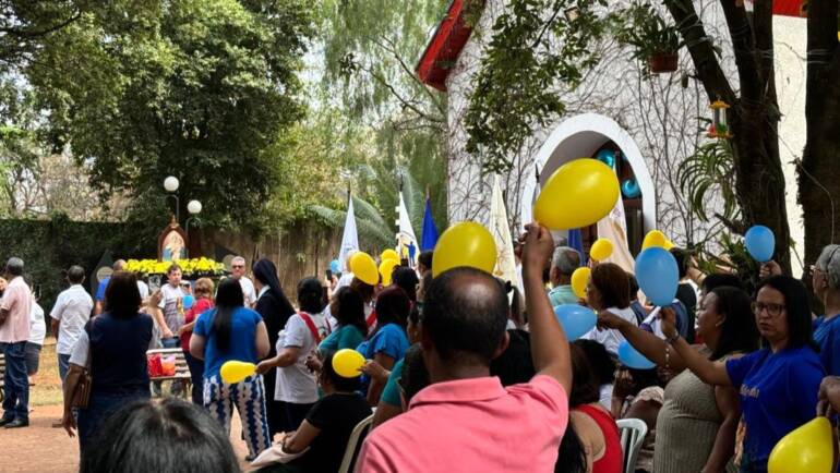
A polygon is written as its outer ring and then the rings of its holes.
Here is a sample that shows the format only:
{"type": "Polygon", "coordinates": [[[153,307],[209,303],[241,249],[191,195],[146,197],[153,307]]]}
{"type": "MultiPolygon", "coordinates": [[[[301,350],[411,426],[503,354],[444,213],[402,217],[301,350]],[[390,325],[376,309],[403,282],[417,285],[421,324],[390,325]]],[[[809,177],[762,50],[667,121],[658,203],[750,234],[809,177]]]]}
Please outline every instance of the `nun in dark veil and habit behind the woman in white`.
{"type": "MultiPolygon", "coordinates": [[[[263,317],[266,331],[268,332],[268,357],[277,355],[277,339],[280,336],[280,330],[286,326],[286,323],[295,314],[295,307],[292,307],[289,300],[286,298],[286,293],[283,292],[280,287],[280,280],[277,278],[277,267],[271,259],[261,258],[252,268],[254,276],[254,289],[256,290],[256,311],[260,316],[263,317]]],[[[271,390],[277,383],[277,372],[269,369],[263,374],[263,383],[271,390]]],[[[280,426],[284,424],[284,410],[274,400],[274,396],[267,396],[265,399],[265,409],[268,414],[268,432],[274,436],[279,432],[280,426]]]]}

